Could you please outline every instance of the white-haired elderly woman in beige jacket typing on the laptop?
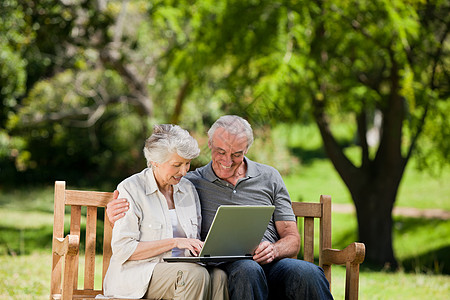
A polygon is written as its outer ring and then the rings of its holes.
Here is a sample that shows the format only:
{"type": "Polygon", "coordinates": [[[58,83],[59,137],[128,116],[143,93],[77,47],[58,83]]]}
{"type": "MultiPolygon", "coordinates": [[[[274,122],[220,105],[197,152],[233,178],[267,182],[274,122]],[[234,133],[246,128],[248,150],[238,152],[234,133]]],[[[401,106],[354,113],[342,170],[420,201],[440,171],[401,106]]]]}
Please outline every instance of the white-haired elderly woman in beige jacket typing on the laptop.
{"type": "Polygon", "coordinates": [[[144,147],[148,168],[117,190],[129,210],[114,224],[104,293],[117,298],[227,299],[224,271],[195,263],[166,263],[167,256],[197,255],[200,202],[183,176],[200,153],[176,125],[156,125],[144,147]]]}

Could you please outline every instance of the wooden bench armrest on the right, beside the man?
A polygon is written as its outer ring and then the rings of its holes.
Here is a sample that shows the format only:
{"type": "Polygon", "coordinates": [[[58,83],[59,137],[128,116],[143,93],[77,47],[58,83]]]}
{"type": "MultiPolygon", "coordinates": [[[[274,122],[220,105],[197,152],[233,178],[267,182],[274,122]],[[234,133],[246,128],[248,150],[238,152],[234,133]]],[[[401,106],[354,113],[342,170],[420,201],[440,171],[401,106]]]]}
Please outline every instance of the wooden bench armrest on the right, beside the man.
{"type": "Polygon", "coordinates": [[[343,250],[323,249],[322,258],[324,265],[361,264],[366,255],[366,246],[363,243],[352,243],[343,250]]]}

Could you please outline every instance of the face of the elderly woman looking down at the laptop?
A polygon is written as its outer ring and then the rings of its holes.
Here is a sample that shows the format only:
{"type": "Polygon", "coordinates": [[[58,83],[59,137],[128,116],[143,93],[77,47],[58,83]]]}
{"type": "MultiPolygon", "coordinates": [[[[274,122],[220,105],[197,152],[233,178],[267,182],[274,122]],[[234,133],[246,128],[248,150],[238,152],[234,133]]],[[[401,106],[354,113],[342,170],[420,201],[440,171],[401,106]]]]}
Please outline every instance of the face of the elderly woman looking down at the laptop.
{"type": "Polygon", "coordinates": [[[153,174],[159,187],[174,185],[180,182],[191,166],[191,160],[185,159],[176,153],[169,156],[169,159],[162,163],[155,163],[153,174]]]}

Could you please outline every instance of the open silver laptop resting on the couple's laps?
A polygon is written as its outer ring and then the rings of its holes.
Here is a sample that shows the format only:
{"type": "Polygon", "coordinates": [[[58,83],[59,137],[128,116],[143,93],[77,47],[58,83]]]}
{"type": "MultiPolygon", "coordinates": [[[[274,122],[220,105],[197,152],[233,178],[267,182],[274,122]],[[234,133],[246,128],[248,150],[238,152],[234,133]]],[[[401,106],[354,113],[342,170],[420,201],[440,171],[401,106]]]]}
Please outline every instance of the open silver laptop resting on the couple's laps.
{"type": "Polygon", "coordinates": [[[275,206],[222,205],[198,256],[165,257],[167,262],[218,263],[252,259],[275,206]]]}

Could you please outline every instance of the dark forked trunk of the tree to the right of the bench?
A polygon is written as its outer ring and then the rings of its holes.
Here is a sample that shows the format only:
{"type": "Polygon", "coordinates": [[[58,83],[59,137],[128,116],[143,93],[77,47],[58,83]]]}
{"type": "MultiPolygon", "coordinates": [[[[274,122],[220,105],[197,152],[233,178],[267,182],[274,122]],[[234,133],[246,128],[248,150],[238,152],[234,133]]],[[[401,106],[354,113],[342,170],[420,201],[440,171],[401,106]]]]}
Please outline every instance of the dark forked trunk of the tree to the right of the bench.
{"type": "MultiPolygon", "coordinates": [[[[390,101],[384,112],[383,137],[375,159],[369,158],[362,141],[361,166],[356,167],[344,154],[330,130],[323,101],[314,101],[314,117],[319,127],[325,151],[349,189],[356,207],[359,240],[366,245],[366,261],[390,268],[397,267],[392,247],[392,210],[407,159],[400,151],[402,103],[390,101]]],[[[358,128],[365,133],[364,115],[358,128]]],[[[360,133],[360,138],[365,134],[360,133]]]]}

